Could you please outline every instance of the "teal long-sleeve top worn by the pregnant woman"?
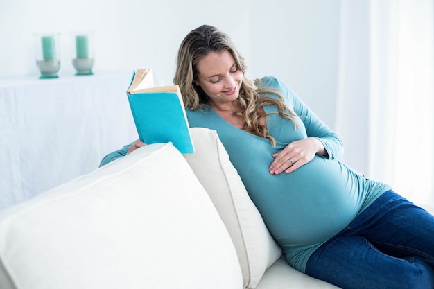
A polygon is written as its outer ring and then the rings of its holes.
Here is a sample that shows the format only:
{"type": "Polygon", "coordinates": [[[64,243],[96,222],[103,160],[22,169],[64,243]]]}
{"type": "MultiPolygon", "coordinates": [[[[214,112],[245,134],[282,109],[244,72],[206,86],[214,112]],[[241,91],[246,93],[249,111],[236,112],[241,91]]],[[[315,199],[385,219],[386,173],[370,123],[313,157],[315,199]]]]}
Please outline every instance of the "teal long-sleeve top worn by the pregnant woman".
{"type": "MultiPolygon", "coordinates": [[[[277,112],[276,107],[264,107],[268,113],[268,132],[277,143],[275,147],[268,139],[227,123],[212,108],[205,112],[186,110],[186,114],[191,127],[217,131],[286,260],[305,272],[307,260],[316,248],[347,227],[363,209],[391,188],[365,179],[339,161],[343,152],[340,139],[283,82],[265,77],[261,79],[261,85],[279,90],[286,105],[297,114],[298,128],[295,129],[292,121],[272,114],[277,112]],[[306,137],[318,138],[328,156],[315,155],[312,161],[293,173],[270,175],[272,154],[284,149],[288,143],[306,137]]],[[[126,152],[128,146],[107,155],[101,164],[126,155],[126,152]]]]}

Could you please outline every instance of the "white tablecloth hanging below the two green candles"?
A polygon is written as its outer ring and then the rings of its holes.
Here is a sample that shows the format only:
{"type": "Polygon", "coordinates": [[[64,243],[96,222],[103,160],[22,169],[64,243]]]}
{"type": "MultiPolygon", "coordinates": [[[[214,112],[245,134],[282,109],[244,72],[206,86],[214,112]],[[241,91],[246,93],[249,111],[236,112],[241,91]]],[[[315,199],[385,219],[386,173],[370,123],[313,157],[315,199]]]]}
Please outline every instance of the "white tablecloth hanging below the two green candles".
{"type": "Polygon", "coordinates": [[[137,139],[130,77],[0,79],[0,209],[92,172],[137,139]]]}

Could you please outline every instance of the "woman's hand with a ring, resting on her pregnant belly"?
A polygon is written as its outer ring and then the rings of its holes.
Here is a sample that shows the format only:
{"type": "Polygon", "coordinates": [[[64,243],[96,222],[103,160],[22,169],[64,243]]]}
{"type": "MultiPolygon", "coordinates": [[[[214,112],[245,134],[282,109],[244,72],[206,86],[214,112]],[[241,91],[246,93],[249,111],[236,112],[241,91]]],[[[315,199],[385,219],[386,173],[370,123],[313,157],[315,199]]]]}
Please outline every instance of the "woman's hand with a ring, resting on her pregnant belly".
{"type": "Polygon", "coordinates": [[[315,137],[289,143],[283,150],[272,155],[275,158],[270,164],[270,174],[292,173],[300,166],[309,163],[315,155],[327,155],[322,142],[315,137]]]}

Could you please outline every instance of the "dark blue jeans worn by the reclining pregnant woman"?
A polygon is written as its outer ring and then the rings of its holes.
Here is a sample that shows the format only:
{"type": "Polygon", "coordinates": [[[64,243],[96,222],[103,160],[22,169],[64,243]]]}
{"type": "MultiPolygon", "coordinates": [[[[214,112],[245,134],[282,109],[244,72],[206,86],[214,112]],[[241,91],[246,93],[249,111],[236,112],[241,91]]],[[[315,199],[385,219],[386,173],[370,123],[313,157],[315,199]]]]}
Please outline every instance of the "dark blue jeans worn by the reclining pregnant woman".
{"type": "Polygon", "coordinates": [[[434,288],[434,217],[383,193],[313,252],[306,274],[345,289],[434,288]]]}

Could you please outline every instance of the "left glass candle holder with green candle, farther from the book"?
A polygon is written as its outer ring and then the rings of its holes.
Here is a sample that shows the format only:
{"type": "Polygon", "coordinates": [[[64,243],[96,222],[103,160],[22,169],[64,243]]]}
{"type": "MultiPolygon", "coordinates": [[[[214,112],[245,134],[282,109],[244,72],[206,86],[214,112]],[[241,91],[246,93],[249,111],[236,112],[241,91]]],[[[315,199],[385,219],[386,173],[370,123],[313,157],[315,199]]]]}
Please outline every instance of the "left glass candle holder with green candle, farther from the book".
{"type": "Polygon", "coordinates": [[[40,78],[58,78],[60,69],[59,33],[35,35],[36,65],[40,78]]]}

